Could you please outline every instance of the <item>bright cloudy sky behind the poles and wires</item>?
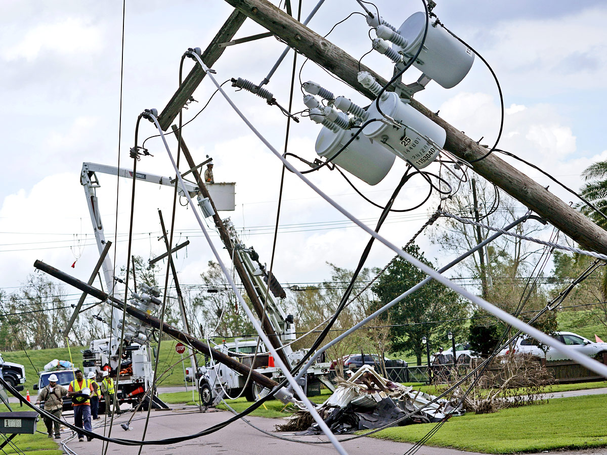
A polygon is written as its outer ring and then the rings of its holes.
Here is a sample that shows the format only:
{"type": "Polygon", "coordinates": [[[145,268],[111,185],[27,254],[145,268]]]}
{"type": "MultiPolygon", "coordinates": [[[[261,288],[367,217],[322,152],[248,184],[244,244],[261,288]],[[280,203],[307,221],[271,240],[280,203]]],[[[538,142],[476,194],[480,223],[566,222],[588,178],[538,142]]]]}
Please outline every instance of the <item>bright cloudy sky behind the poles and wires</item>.
{"type": "MultiPolygon", "coordinates": [[[[307,16],[316,0],[304,0],[307,16]]],[[[489,62],[504,95],[506,119],[501,148],[542,167],[574,189],[580,187],[580,171],[597,160],[607,159],[602,140],[607,83],[607,5],[600,1],[438,1],[435,13],[450,30],[469,42],[489,62]]],[[[376,2],[388,22],[401,24],[421,10],[420,1],[376,2]]],[[[181,55],[188,47],[205,49],[232,8],[219,0],[172,2],[127,1],[124,26],[124,81],[122,129],[119,143],[122,2],[119,1],[10,1],[0,4],[0,118],[2,178],[0,179],[0,288],[16,290],[34,272],[33,262],[50,265],[87,280],[98,258],[89,212],[80,184],[84,161],[132,167],[129,149],[134,145],[137,115],[147,108],[160,112],[178,86],[181,55]],[[72,263],[75,267],[71,268],[72,263]]],[[[354,0],[327,0],[310,22],[311,29],[325,35],[336,22],[352,12],[363,12],[354,0]]],[[[353,15],[328,36],[354,58],[370,49],[368,25],[353,15]]],[[[261,33],[251,20],[237,38],[261,33]]],[[[274,38],[228,47],[214,65],[223,82],[242,77],[259,83],[284,49],[274,38]]],[[[389,78],[390,61],[377,53],[362,60],[389,78]]],[[[297,70],[304,62],[297,59],[297,70]]],[[[267,88],[277,101],[288,105],[293,54],[273,76],[267,88]]],[[[185,73],[193,65],[185,62],[185,73]]],[[[419,72],[405,73],[406,83],[419,72]]],[[[365,105],[367,99],[307,62],[302,81],[312,79],[336,95],[345,95],[365,105]]],[[[297,79],[296,79],[297,80],[297,79]]],[[[285,141],[285,116],[276,107],[226,84],[234,102],[279,150],[285,141]]],[[[185,111],[189,120],[214,91],[206,78],[194,93],[198,101],[185,111]]],[[[493,144],[498,132],[500,107],[497,87],[489,70],[476,59],[472,70],[453,89],[435,82],[416,98],[471,138],[493,144]]],[[[305,106],[296,84],[294,111],[305,106]]],[[[312,161],[319,126],[307,118],[291,125],[289,151],[312,161]]],[[[141,123],[139,145],[157,133],[147,121],[141,123]]],[[[242,229],[241,240],[253,245],[268,262],[273,241],[272,226],[280,182],[280,162],[246,128],[220,95],[183,130],[194,156],[202,162],[209,155],[215,163],[216,181],[236,182],[236,211],[222,212],[242,229]]],[[[169,139],[172,152],[175,141],[169,139]]],[[[146,143],[153,157],[143,157],[138,170],[171,176],[168,155],[158,138],[146,143]]],[[[303,164],[296,162],[303,169],[303,164]]],[[[538,172],[516,164],[565,201],[571,196],[538,172]]],[[[184,166],[185,167],[185,166],[184,166]]],[[[405,166],[397,159],[388,177],[376,186],[357,178],[353,183],[367,197],[385,203],[405,166]]],[[[429,168],[432,169],[432,168],[429,168]]],[[[106,237],[114,240],[117,221],[118,266],[127,254],[128,220],[131,211],[131,180],[98,175],[97,190],[106,237]],[[117,207],[118,200],[118,207],[117,207]]],[[[335,171],[326,168],[310,175],[327,194],[351,213],[375,224],[379,210],[365,203],[335,171]]],[[[134,221],[134,254],[149,258],[160,254],[157,241],[158,209],[170,224],[172,190],[137,183],[134,221]]],[[[412,180],[395,204],[415,205],[426,186],[412,180]]],[[[185,203],[184,201],[181,201],[185,203]]],[[[382,234],[404,244],[435,209],[432,200],[405,215],[392,215],[382,234]]],[[[329,275],[326,261],[353,269],[368,237],[288,174],[285,178],[281,230],[274,269],[281,282],[310,283],[329,275]]],[[[208,244],[191,210],[177,207],[175,243],[189,238],[187,253],[178,254],[181,283],[200,283],[199,274],[212,258],[208,244]]],[[[215,245],[221,248],[219,238],[215,245]]],[[[429,258],[439,257],[427,237],[419,244],[429,258]]],[[[369,266],[384,266],[393,252],[376,245],[369,266]]],[[[441,265],[441,260],[437,260],[441,265]]],[[[72,293],[72,291],[70,291],[72,293]]]]}

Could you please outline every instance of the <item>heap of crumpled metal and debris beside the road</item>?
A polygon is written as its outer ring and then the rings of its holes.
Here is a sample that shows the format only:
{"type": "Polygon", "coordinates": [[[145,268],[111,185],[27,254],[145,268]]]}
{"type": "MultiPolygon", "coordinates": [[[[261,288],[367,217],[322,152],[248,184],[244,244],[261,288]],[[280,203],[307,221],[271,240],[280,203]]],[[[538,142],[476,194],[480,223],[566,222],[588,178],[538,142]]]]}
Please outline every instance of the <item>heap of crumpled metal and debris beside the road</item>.
{"type": "MultiPolygon", "coordinates": [[[[387,380],[373,366],[363,365],[350,379],[339,381],[333,395],[317,411],[334,434],[439,422],[465,413],[461,408],[453,408],[447,400],[430,403],[435,398],[387,380]]],[[[302,435],[322,433],[313,422],[310,413],[300,410],[285,425],[277,425],[276,430],[300,431],[298,434],[302,435]]]]}

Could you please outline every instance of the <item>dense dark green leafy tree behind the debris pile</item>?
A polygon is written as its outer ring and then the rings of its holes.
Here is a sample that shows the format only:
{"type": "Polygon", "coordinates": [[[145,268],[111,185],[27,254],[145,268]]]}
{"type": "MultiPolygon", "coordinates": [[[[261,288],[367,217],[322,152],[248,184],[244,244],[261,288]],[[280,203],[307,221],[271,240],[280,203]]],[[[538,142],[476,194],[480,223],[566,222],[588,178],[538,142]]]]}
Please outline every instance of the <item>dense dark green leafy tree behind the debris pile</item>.
{"type": "MultiPolygon", "coordinates": [[[[410,245],[405,251],[433,267],[416,244],[410,245]]],[[[424,278],[426,274],[398,257],[373,286],[373,292],[379,297],[378,304],[385,305],[424,278]]],[[[432,280],[388,311],[394,325],[390,329],[393,348],[415,354],[418,363],[421,363],[424,354],[422,337],[429,339],[430,346],[438,346],[444,342],[448,331],[461,333],[463,321],[458,319],[466,317],[466,303],[456,292],[432,280]]]]}

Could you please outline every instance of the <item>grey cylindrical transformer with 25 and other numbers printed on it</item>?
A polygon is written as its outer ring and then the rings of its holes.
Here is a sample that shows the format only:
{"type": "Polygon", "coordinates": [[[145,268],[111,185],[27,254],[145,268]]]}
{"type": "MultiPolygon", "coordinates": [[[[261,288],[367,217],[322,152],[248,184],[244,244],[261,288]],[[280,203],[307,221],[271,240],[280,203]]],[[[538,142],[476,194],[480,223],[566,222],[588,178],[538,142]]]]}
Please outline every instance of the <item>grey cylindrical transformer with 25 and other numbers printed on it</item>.
{"type": "MultiPolygon", "coordinates": [[[[404,103],[396,93],[387,93],[388,96],[383,101],[379,101],[381,112],[404,126],[396,128],[377,121],[365,126],[362,132],[375,141],[374,143],[384,144],[419,169],[428,166],[444,146],[446,131],[409,104],[404,103]]],[[[369,118],[382,118],[375,101],[367,111],[369,118]]]]}

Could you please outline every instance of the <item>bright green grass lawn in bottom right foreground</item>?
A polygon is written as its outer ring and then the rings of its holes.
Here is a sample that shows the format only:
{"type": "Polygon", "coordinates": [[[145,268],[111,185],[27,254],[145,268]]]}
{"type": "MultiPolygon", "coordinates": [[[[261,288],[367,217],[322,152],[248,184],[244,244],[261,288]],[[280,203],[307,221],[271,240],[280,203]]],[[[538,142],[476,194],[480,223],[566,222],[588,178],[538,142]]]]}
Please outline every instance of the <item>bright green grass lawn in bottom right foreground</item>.
{"type": "MultiPolygon", "coordinates": [[[[466,414],[450,419],[428,444],[494,454],[607,447],[606,408],[607,395],[594,395],[493,414],[466,414]]],[[[417,442],[435,425],[388,428],[373,437],[417,442]]]]}

